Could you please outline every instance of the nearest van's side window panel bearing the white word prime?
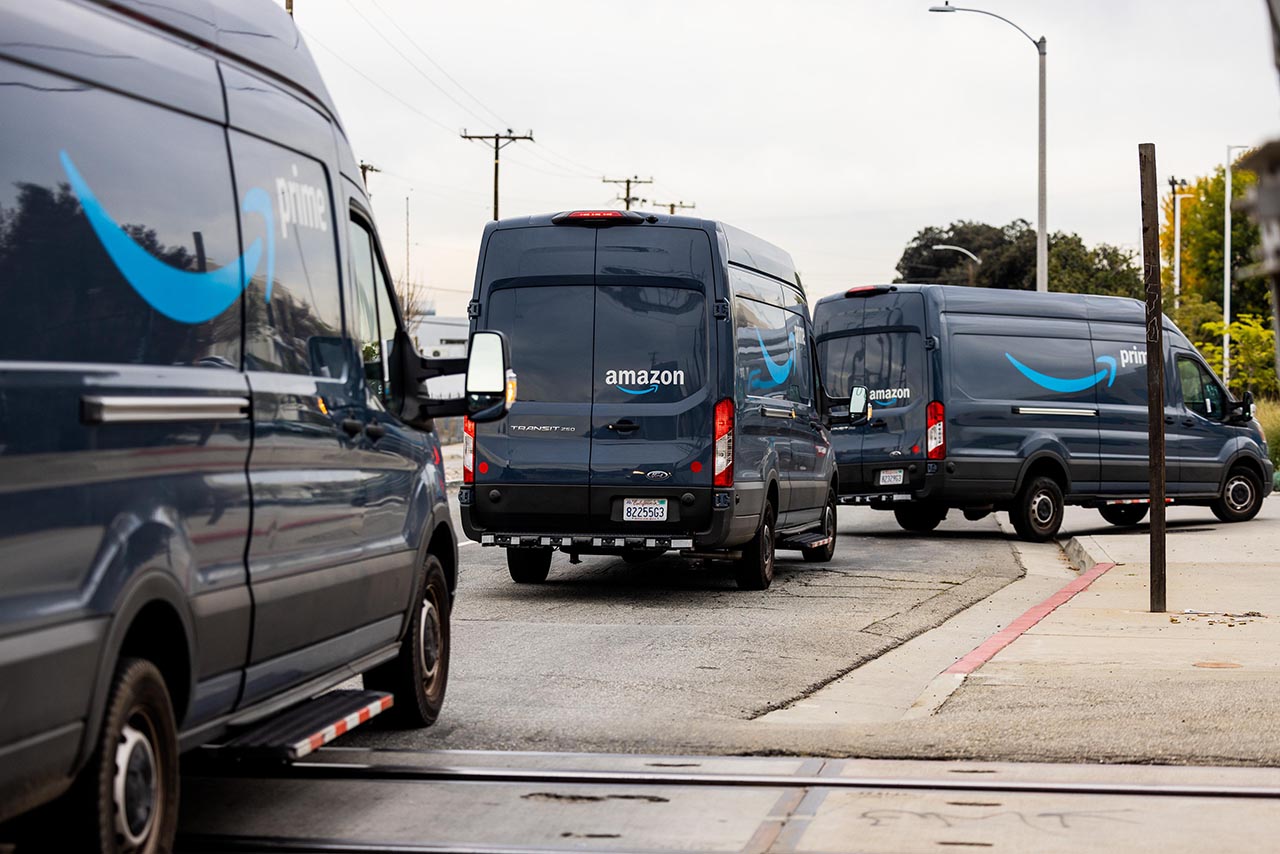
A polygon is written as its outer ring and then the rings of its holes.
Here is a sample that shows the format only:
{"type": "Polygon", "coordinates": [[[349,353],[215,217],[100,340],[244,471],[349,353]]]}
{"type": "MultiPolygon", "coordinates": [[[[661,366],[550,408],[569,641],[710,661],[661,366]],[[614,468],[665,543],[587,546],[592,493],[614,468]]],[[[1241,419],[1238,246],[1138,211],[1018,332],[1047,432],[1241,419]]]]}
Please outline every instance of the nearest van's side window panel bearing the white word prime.
{"type": "Polygon", "coordinates": [[[241,214],[244,246],[260,245],[266,255],[247,291],[244,367],[342,380],[342,298],[324,166],[234,131],[230,140],[242,196],[265,191],[256,200],[270,214],[260,215],[253,201],[241,214]]]}

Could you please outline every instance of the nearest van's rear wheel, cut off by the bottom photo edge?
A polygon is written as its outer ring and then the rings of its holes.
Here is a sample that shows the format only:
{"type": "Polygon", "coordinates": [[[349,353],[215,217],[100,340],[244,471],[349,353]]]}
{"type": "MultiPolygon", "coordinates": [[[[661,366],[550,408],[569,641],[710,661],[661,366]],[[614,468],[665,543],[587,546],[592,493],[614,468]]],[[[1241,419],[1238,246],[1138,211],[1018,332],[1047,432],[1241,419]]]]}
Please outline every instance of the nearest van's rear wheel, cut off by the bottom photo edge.
{"type": "Polygon", "coordinates": [[[52,813],[60,850],[163,854],[178,832],[178,731],[159,668],[123,658],[97,745],[52,813]]]}

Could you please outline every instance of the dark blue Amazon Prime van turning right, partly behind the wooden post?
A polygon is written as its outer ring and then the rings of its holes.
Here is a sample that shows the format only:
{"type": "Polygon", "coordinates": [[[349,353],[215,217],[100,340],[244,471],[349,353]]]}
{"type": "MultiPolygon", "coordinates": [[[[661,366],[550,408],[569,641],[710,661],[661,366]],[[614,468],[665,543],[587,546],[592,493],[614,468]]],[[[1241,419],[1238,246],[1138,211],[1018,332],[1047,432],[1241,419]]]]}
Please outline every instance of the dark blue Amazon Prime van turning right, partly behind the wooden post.
{"type": "MultiPolygon", "coordinates": [[[[1020,536],[1052,538],[1064,504],[1116,525],[1147,513],[1147,351],[1137,300],[937,284],[851,288],[814,306],[833,397],[841,501],[929,531],[950,510],[1007,511],[1020,536]],[[865,405],[865,412],[861,406],[865,405]]],[[[1272,489],[1252,396],[1235,401],[1165,319],[1169,495],[1224,521],[1272,489]]]]}

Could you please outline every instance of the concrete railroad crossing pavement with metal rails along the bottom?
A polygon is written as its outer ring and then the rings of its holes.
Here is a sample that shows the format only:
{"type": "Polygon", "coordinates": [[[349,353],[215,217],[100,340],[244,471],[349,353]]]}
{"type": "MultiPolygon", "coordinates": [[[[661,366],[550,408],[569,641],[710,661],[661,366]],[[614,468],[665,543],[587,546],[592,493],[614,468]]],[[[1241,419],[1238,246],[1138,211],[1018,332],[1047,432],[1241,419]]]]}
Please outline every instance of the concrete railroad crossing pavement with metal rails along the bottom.
{"type": "Polygon", "coordinates": [[[323,749],[183,780],[179,851],[1266,850],[1280,771],[323,749]]]}

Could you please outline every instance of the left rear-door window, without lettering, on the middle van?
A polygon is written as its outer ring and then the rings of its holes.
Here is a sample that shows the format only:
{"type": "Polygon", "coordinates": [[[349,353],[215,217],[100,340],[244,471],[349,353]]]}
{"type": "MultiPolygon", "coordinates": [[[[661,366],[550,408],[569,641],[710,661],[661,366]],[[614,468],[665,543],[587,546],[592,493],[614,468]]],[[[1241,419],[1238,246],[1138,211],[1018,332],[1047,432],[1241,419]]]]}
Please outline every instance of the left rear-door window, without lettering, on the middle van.
{"type": "Polygon", "coordinates": [[[489,297],[488,326],[507,333],[520,374],[517,401],[591,402],[595,288],[502,288],[489,297]]]}

